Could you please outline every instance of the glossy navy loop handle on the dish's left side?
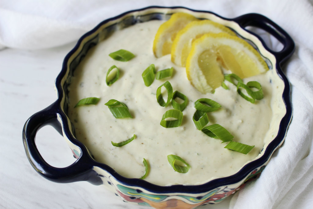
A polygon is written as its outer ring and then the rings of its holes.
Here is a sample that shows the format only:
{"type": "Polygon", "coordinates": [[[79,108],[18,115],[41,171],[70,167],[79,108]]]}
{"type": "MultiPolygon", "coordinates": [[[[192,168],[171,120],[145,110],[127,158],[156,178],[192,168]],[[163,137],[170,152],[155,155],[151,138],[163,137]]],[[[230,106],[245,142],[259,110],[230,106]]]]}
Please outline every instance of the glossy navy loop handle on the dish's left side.
{"type": "MultiPolygon", "coordinates": [[[[33,114],[26,121],[23,128],[23,144],[28,160],[40,175],[54,182],[89,181],[94,185],[102,184],[101,178],[93,170],[92,159],[89,155],[84,154],[88,153],[87,151],[82,151],[80,157],[72,165],[65,168],[49,165],[40,155],[35,144],[35,136],[40,128],[51,125],[63,135],[61,123],[57,118],[57,114],[59,114],[57,105],[58,103],[54,102],[49,107],[33,114]]],[[[84,149],[82,146],[80,148],[84,149]]]]}

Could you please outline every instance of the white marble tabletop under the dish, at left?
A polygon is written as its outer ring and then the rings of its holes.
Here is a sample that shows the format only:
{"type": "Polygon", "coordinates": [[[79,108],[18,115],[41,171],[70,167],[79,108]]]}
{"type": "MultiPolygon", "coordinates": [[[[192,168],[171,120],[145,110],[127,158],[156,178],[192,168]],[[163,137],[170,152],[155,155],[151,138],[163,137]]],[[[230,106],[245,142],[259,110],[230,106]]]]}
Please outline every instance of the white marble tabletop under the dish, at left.
{"type": "MultiPolygon", "coordinates": [[[[0,208],[149,208],[125,203],[103,186],[88,182],[51,182],[28,162],[23,125],[33,113],[56,100],[54,80],[74,44],[0,51],[0,208]]],[[[63,137],[50,126],[38,131],[36,145],[52,166],[66,167],[75,160],[63,137]]],[[[198,208],[228,208],[230,199],[198,208]]]]}

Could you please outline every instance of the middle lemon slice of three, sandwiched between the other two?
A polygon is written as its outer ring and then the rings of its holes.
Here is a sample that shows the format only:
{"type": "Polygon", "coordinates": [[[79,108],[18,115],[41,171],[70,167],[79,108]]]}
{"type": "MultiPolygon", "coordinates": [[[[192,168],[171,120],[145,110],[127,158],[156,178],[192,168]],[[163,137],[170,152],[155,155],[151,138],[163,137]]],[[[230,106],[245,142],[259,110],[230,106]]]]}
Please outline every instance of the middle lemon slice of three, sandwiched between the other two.
{"type": "Polygon", "coordinates": [[[231,29],[211,20],[192,21],[181,29],[172,44],[171,60],[176,65],[186,66],[192,42],[207,33],[228,33],[236,35],[231,29]]]}

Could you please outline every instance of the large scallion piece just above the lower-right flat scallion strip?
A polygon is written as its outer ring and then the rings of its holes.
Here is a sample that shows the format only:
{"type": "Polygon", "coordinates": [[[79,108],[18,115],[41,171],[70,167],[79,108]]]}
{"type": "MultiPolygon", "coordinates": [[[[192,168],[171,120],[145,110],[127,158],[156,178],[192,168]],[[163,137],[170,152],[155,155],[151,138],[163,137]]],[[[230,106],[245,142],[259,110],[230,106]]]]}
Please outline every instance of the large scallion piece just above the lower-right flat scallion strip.
{"type": "Polygon", "coordinates": [[[207,134],[209,137],[221,139],[223,141],[222,143],[229,142],[232,140],[232,138],[234,138],[231,133],[229,133],[223,126],[219,124],[213,124],[204,127],[201,131],[207,134]]]}

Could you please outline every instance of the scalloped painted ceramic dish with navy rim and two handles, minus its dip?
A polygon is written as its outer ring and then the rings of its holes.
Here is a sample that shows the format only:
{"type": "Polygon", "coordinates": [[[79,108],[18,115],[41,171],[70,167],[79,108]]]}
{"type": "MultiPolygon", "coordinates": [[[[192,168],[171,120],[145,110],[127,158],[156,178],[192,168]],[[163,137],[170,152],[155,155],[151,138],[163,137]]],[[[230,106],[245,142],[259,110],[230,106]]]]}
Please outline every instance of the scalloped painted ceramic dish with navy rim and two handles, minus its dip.
{"type": "MultiPolygon", "coordinates": [[[[203,204],[214,204],[222,201],[244,186],[248,180],[254,179],[268,163],[273,152],[285,139],[288,125],[292,117],[290,102],[290,85],[280,66],[293,53],[295,44],[290,36],[277,24],[259,14],[246,14],[234,19],[227,19],[208,11],[196,11],[183,7],[148,7],[123,13],[101,22],[95,29],[83,35],[73,50],[64,58],[63,67],[56,78],[55,89],[58,99],[49,107],[35,113],[23,128],[23,143],[27,157],[34,169],[45,178],[69,183],[89,181],[95,185],[106,185],[124,201],[155,208],[194,208],[203,204]],[[285,85],[282,100],[286,109],[279,123],[278,134],[274,140],[264,146],[261,154],[253,161],[245,164],[236,174],[217,178],[201,185],[159,186],[141,179],[128,179],[116,173],[108,165],[95,161],[88,149],[75,139],[72,124],[67,117],[67,86],[76,66],[85,57],[88,50],[115,30],[149,20],[167,20],[172,13],[191,13],[198,18],[207,18],[233,29],[240,37],[252,44],[264,57],[269,69],[276,71],[285,85]],[[244,29],[254,26],[264,29],[277,38],[284,48],[280,52],[270,50],[258,35],[244,29]],[[67,168],[54,168],[47,164],[39,154],[35,145],[35,135],[39,128],[53,125],[66,139],[73,151],[76,162],[67,168]]],[[[151,49],[152,50],[152,49],[151,49]]]]}

